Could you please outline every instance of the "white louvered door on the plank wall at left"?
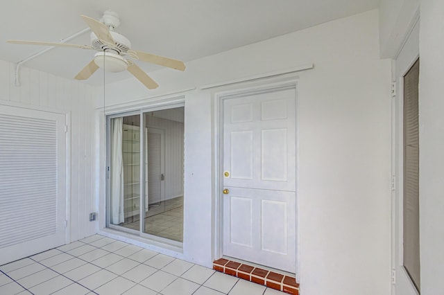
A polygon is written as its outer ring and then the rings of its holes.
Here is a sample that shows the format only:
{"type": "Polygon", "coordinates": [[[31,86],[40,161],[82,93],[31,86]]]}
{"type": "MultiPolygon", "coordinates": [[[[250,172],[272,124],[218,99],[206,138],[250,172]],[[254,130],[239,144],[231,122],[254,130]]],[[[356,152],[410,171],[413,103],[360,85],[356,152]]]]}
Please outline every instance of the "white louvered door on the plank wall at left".
{"type": "Polygon", "coordinates": [[[65,244],[65,114],[0,107],[0,265],[65,244]]]}

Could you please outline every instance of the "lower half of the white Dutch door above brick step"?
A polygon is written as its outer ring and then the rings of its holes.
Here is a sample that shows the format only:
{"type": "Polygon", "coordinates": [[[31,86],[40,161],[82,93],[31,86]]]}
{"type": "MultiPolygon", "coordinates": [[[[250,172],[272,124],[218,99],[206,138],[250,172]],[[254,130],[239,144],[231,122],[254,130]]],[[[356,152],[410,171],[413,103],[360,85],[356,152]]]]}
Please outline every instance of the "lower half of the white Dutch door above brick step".
{"type": "Polygon", "coordinates": [[[295,272],[295,193],[229,188],[223,216],[223,254],[295,272]]]}

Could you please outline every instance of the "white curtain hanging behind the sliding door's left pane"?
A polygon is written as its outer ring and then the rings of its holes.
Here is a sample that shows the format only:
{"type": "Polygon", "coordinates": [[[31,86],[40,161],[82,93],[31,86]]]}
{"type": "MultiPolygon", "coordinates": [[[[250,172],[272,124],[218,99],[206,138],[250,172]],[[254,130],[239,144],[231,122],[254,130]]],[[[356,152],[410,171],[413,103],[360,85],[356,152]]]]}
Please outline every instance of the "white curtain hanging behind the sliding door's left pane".
{"type": "Polygon", "coordinates": [[[113,118],[111,123],[111,224],[121,224],[123,213],[123,118],[113,118]]]}

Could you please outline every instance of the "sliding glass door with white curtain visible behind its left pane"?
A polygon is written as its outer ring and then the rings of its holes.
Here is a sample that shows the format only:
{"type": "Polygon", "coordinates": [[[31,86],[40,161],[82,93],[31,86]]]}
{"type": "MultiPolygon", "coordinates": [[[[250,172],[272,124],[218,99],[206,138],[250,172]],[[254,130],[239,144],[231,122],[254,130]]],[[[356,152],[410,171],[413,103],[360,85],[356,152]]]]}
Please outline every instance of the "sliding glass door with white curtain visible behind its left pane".
{"type": "Polygon", "coordinates": [[[183,241],[183,118],[183,107],[108,118],[108,227],[183,241]]]}

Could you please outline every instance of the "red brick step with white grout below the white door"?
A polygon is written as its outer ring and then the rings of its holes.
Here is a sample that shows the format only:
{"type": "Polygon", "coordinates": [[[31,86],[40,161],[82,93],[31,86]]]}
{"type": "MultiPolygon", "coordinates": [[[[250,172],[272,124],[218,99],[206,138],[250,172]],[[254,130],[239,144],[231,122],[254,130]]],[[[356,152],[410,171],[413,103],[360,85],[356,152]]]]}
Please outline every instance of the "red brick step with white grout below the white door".
{"type": "Polygon", "coordinates": [[[287,271],[270,269],[262,265],[259,267],[251,262],[237,262],[232,258],[214,260],[213,269],[287,294],[299,295],[299,284],[295,276],[287,271]]]}

